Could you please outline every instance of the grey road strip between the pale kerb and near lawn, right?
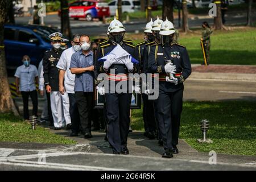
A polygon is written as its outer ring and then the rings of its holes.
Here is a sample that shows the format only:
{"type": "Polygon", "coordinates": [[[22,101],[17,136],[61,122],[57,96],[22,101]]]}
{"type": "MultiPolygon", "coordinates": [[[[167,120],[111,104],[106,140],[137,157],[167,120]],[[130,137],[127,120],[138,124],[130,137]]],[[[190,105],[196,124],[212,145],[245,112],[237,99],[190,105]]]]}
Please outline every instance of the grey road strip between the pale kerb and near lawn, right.
{"type": "Polygon", "coordinates": [[[188,78],[184,85],[185,101],[256,101],[255,81],[194,80],[188,78]]]}

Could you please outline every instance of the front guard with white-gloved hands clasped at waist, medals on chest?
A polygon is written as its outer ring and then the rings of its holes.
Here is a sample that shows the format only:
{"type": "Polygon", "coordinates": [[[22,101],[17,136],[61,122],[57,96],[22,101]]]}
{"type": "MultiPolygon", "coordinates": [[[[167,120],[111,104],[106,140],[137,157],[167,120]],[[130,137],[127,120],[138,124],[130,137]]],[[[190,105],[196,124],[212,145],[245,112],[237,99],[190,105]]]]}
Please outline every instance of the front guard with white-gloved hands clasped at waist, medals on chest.
{"type": "Polygon", "coordinates": [[[191,63],[187,49],[172,43],[173,24],[166,20],[162,23],[161,43],[150,47],[148,71],[159,73],[158,121],[163,138],[163,158],[177,154],[180,116],[183,105],[183,82],[191,75],[191,63]]]}

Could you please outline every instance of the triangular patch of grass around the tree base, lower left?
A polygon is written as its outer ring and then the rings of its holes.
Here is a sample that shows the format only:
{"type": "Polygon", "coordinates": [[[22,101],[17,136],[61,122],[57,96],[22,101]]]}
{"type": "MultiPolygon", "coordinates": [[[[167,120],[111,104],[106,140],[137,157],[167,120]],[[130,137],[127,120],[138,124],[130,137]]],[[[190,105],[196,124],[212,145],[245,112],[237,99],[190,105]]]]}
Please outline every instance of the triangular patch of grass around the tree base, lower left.
{"type": "Polygon", "coordinates": [[[12,114],[0,114],[0,142],[76,144],[74,140],[55,135],[40,126],[31,130],[30,124],[12,114]]]}

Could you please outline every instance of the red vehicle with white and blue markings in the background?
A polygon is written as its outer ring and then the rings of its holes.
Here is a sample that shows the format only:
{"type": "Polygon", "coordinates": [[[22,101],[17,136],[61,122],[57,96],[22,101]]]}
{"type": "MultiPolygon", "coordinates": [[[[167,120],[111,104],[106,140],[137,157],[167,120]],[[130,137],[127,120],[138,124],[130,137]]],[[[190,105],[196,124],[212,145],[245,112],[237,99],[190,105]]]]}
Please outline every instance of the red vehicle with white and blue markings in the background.
{"type": "MultiPolygon", "coordinates": [[[[60,15],[59,11],[59,15],[60,15]]],[[[103,0],[84,0],[69,4],[69,17],[78,20],[85,18],[92,21],[93,18],[103,19],[103,16],[110,16],[108,3],[103,0]]]]}

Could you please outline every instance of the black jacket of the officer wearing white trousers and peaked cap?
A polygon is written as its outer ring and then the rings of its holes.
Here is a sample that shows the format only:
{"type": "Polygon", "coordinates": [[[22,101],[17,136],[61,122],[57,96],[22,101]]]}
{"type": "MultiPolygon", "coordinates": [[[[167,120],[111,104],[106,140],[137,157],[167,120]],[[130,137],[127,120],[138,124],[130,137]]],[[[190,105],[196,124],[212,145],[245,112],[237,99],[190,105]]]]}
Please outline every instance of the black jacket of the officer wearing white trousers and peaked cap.
{"type": "Polygon", "coordinates": [[[50,49],[44,53],[43,69],[44,69],[44,84],[50,85],[52,91],[59,91],[59,69],[56,67],[59,62],[62,49],[50,49]]]}

